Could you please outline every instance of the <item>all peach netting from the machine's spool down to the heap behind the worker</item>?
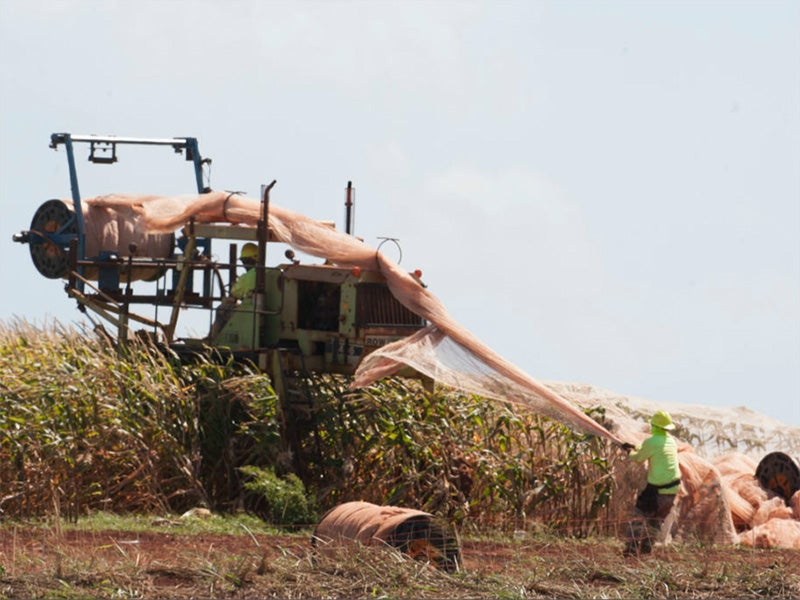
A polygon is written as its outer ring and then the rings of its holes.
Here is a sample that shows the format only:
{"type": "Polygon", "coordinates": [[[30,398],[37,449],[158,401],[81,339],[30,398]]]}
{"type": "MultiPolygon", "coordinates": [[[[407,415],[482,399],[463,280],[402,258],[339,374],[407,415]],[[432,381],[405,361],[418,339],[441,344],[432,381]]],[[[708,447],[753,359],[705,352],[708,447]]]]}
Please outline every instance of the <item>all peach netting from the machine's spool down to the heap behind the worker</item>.
{"type": "MultiPolygon", "coordinates": [[[[65,201],[71,204],[69,201],[65,201]]],[[[163,237],[184,227],[190,219],[198,223],[230,223],[255,226],[262,216],[259,200],[228,192],[208,192],[186,196],[120,195],[111,194],[82,201],[84,215],[93,222],[87,225],[87,235],[105,232],[103,244],[113,245],[114,227],[132,222],[139,232],[139,256],[163,256],[158,246],[163,237]],[[107,222],[100,222],[106,219],[107,222]],[[117,225],[112,225],[117,223],[117,225]],[[153,247],[147,240],[152,239],[153,247]]],[[[363,241],[332,229],[329,225],[287,210],[269,205],[268,225],[271,239],[289,244],[306,254],[325,259],[339,267],[360,267],[379,271],[395,298],[404,306],[426,319],[429,325],[413,335],[383,346],[368,354],[360,363],[353,387],[364,387],[383,377],[410,366],[440,384],[486,398],[511,402],[554,418],[586,434],[600,436],[609,442],[636,443],[647,435],[642,417],[649,417],[655,405],[639,402],[633,409],[626,397],[613,396],[589,386],[547,383],[525,373],[486,346],[470,331],[457,323],[442,302],[399,265],[363,241]],[[602,424],[588,416],[585,410],[600,408],[602,424]]],[[[121,234],[120,234],[121,236],[121,234]]],[[[120,240],[121,241],[121,240],[120,240]]],[[[92,242],[87,248],[95,248],[92,242]]],[[[101,248],[109,249],[109,248],[101,248]]],[[[126,254],[121,244],[110,248],[126,254]]],[[[665,408],[659,404],[658,408],[665,408]]],[[[683,415],[671,409],[673,417],[687,426],[687,421],[700,423],[701,439],[709,442],[714,428],[725,431],[729,425],[741,427],[736,415],[714,414],[712,409],[683,415]],[[709,416],[710,415],[710,416],[709,416]],[[690,418],[691,417],[691,418],[690,418]],[[708,431],[712,431],[711,434],[708,431]]],[[[694,412],[694,411],[693,411],[694,412]]],[[[755,414],[755,413],[753,413],[755,414]]],[[[784,452],[800,451],[800,428],[766,423],[749,435],[734,432],[733,449],[744,443],[750,453],[765,449],[763,440],[781,445],[784,452]]],[[[702,443],[695,444],[702,445],[702,443]]],[[[794,509],[787,512],[775,499],[758,486],[753,473],[752,459],[726,458],[715,464],[696,454],[684,444],[680,452],[682,484],[678,498],[679,514],[673,526],[675,537],[694,537],[716,542],[756,546],[800,547],[797,494],[792,500],[794,509]]],[[[739,455],[743,456],[743,455],[739,455]]],[[[781,501],[782,503],[782,501],[781,501]]]]}

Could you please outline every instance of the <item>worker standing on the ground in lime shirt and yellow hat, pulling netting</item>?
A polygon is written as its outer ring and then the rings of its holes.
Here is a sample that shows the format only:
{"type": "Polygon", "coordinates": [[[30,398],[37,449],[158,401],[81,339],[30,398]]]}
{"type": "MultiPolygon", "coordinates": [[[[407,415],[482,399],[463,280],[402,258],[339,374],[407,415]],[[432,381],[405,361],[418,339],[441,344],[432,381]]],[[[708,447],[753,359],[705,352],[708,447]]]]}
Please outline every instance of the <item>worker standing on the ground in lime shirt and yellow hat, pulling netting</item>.
{"type": "Polygon", "coordinates": [[[629,524],[625,555],[645,554],[661,532],[664,519],[669,516],[675,496],[680,489],[681,470],[678,463],[678,444],[670,435],[675,429],[668,412],[656,411],[650,418],[649,438],[635,448],[624,444],[630,458],[636,462],[647,461],[647,485],[636,498],[634,518],[629,524]]]}

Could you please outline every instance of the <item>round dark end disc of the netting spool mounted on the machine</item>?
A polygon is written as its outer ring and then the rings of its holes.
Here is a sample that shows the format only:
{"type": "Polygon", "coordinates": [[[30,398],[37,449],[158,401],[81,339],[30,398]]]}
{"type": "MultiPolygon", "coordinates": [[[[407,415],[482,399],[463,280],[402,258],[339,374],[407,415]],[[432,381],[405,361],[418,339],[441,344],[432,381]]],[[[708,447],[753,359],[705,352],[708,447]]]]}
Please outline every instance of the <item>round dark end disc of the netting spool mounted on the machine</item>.
{"type": "Polygon", "coordinates": [[[39,273],[48,279],[66,277],[69,250],[46,236],[77,236],[75,213],[61,200],[48,200],[33,215],[30,234],[31,259],[39,273]]]}

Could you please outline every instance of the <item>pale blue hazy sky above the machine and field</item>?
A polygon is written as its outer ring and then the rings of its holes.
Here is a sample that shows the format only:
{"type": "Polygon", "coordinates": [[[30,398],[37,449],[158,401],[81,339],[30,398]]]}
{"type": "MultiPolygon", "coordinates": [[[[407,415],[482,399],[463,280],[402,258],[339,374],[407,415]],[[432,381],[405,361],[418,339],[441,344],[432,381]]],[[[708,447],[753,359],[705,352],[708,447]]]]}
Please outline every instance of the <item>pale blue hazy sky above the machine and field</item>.
{"type": "Polygon", "coordinates": [[[3,320],[80,321],[11,242],[68,195],[56,131],[196,136],[215,188],[339,227],[352,180],[534,377],[800,425],[800,2],[0,0],[3,320]]]}

